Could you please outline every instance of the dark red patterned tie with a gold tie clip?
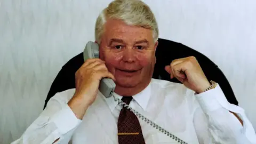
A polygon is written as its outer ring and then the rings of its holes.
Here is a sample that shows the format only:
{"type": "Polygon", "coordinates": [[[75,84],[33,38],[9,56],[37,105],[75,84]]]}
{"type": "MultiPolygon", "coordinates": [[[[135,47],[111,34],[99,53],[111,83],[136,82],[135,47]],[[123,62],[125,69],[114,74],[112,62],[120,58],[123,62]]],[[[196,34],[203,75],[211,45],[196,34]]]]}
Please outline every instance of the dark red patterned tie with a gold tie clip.
{"type": "MultiPolygon", "coordinates": [[[[123,97],[121,99],[127,105],[132,97],[123,97]]],[[[118,143],[119,144],[144,144],[145,140],[137,116],[132,111],[122,108],[117,122],[118,143]]]]}

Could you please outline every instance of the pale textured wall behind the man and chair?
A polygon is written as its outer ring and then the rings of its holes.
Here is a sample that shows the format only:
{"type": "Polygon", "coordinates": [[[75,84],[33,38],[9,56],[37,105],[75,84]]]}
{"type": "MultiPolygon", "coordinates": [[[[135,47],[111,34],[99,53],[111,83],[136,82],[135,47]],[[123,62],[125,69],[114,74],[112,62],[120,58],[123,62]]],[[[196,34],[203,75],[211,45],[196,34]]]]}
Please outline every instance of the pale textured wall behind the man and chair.
{"type": "MultiPolygon", "coordinates": [[[[94,40],[110,0],[0,0],[0,143],[43,109],[61,66],[94,40]]],[[[147,0],[160,37],[204,53],[222,69],[256,128],[256,1],[147,0]]]]}

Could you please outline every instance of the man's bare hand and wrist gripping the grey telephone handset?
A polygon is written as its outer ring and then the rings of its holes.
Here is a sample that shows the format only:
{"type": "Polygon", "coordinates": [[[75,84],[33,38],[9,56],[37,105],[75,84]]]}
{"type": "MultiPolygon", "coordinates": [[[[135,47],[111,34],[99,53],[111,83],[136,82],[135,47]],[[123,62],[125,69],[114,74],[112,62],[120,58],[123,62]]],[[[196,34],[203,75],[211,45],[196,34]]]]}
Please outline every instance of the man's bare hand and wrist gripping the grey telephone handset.
{"type": "Polygon", "coordinates": [[[85,111],[95,101],[103,77],[114,79],[105,62],[100,59],[87,59],[76,71],[76,91],[68,106],[77,118],[83,119],[85,111]]]}

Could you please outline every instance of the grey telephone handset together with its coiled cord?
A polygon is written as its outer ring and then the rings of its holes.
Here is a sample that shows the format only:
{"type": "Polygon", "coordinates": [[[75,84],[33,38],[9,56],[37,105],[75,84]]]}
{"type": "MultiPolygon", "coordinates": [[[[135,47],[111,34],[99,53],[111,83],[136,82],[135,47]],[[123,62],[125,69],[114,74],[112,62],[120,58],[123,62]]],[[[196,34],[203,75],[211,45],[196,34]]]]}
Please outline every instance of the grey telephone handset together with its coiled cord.
{"type": "MultiPolygon", "coordinates": [[[[87,60],[89,58],[99,58],[99,45],[94,42],[88,42],[84,49],[84,60],[87,60]]],[[[161,126],[158,126],[154,122],[150,121],[150,119],[146,118],[145,116],[141,115],[138,111],[134,110],[133,108],[129,107],[129,105],[126,105],[125,102],[115,97],[113,94],[115,91],[116,84],[111,78],[102,78],[99,85],[99,91],[106,97],[109,98],[113,95],[114,100],[118,101],[119,105],[123,106],[124,108],[132,111],[137,117],[141,118],[143,121],[147,122],[149,125],[155,127],[155,129],[163,132],[168,137],[172,138],[173,140],[182,143],[187,144],[187,142],[181,140],[180,138],[176,137],[175,135],[171,134],[170,132],[163,129],[161,126]]]]}

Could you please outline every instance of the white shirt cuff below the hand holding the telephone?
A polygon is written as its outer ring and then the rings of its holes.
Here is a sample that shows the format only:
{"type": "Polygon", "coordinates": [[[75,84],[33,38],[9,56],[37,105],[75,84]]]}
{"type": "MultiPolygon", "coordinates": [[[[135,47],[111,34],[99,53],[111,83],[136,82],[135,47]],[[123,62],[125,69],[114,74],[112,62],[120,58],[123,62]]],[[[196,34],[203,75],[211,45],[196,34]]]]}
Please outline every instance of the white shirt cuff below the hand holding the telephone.
{"type": "Polygon", "coordinates": [[[62,110],[55,114],[50,121],[57,126],[60,134],[69,132],[82,122],[75,116],[68,105],[63,106],[62,110]]]}

